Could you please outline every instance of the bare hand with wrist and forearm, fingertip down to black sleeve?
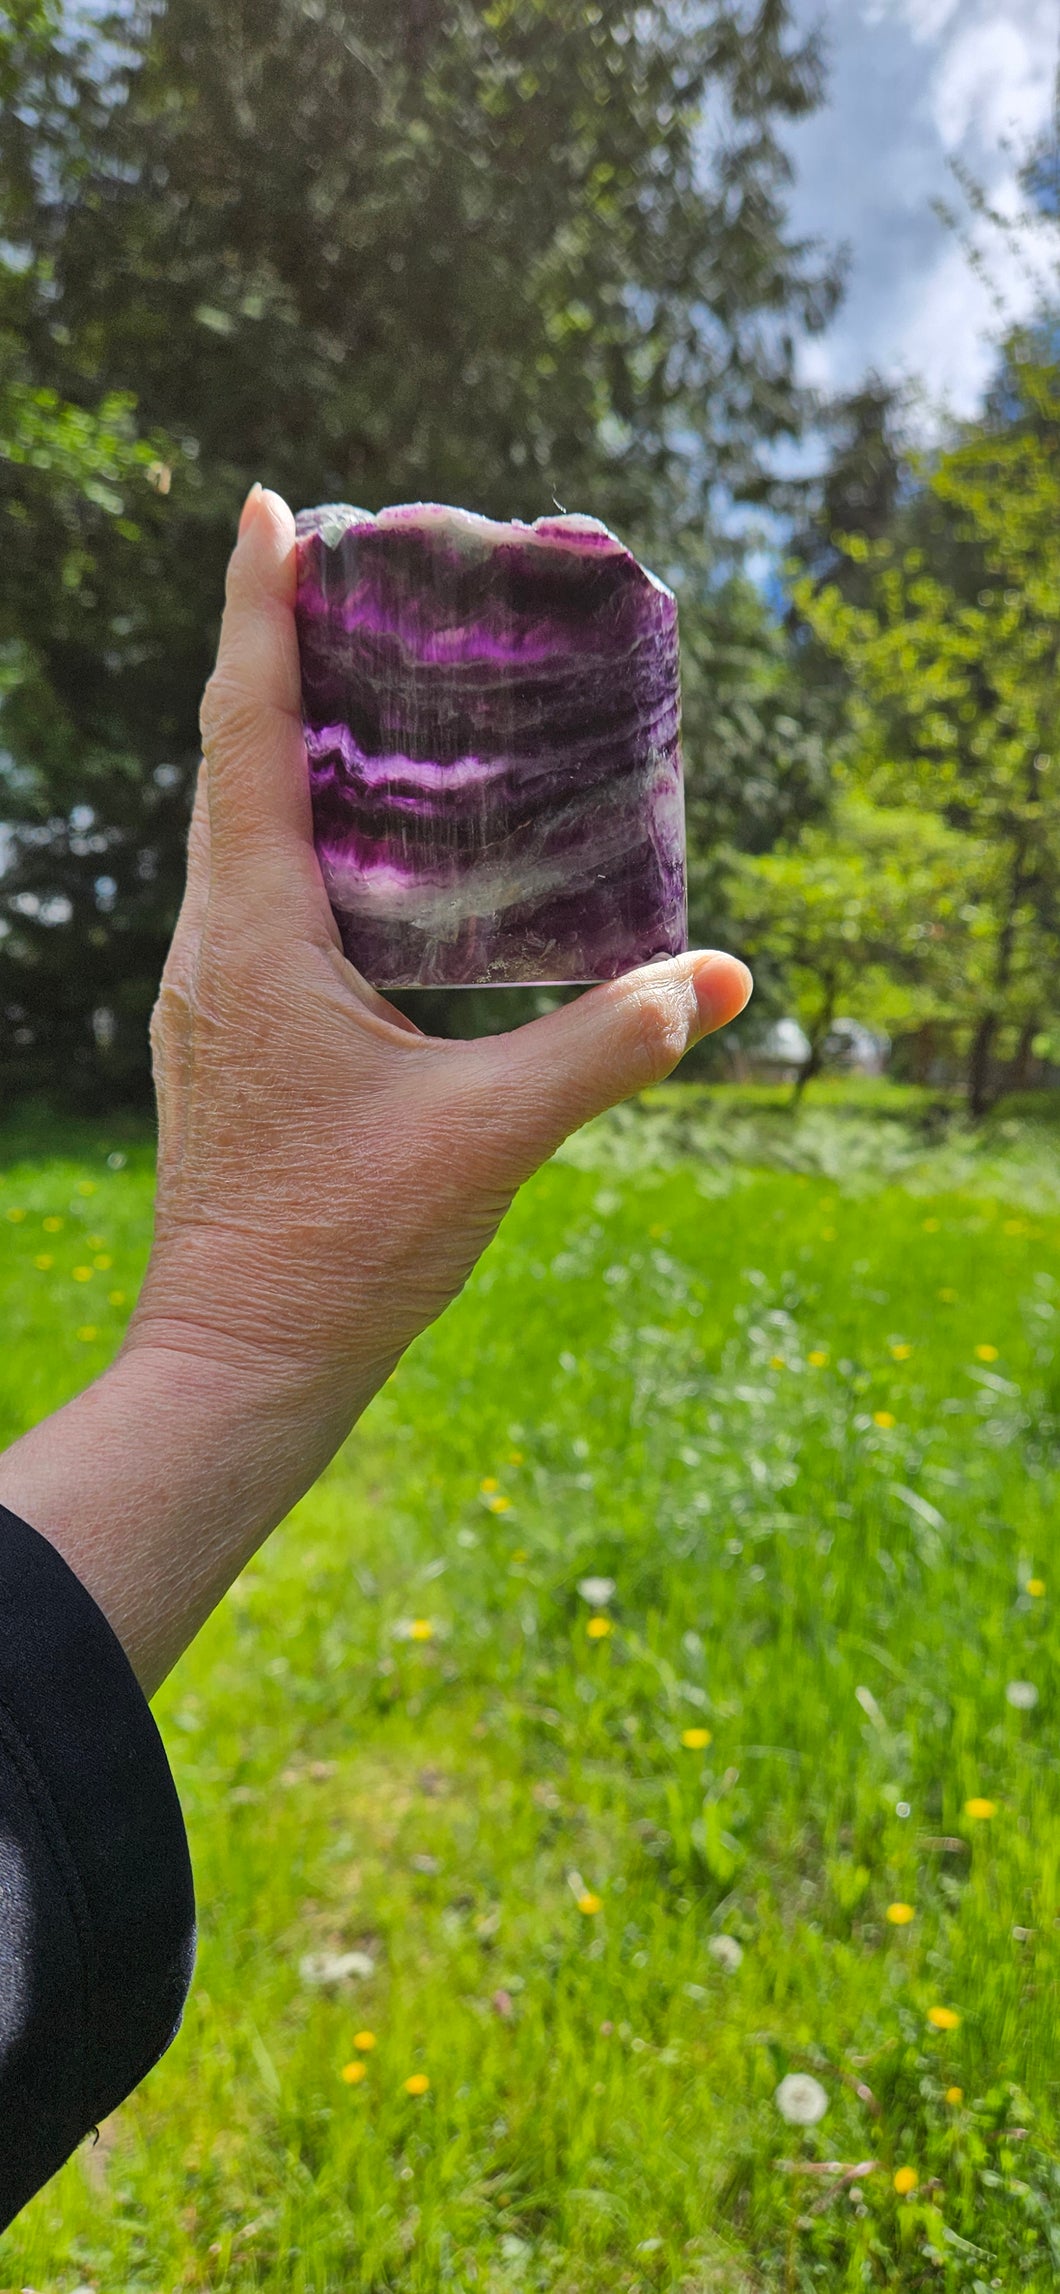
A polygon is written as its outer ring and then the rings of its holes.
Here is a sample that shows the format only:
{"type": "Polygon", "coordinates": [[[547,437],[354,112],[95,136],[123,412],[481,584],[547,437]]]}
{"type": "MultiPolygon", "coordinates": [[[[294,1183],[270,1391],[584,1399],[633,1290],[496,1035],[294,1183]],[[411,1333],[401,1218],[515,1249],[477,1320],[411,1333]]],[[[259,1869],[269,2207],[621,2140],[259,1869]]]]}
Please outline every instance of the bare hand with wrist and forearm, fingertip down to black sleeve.
{"type": "Polygon", "coordinates": [[[750,996],[743,963],[700,952],[480,1041],[395,1012],[346,963],[314,856],[294,590],[291,512],[255,489],[151,1021],[151,1262],[112,1370],[0,1459],[0,1500],[60,1544],[149,1686],[457,1296],[521,1181],[750,996]]]}

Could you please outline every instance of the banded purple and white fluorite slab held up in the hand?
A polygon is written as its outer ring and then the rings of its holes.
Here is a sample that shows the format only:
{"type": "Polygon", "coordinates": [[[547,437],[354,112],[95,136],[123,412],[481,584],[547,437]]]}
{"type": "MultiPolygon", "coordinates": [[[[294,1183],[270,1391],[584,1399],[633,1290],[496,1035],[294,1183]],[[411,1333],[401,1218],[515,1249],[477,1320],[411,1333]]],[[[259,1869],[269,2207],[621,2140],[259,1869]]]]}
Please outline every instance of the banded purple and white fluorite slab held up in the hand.
{"type": "Polygon", "coordinates": [[[686,945],[677,599],[597,518],[301,509],[317,851],[383,989],[686,945]]]}

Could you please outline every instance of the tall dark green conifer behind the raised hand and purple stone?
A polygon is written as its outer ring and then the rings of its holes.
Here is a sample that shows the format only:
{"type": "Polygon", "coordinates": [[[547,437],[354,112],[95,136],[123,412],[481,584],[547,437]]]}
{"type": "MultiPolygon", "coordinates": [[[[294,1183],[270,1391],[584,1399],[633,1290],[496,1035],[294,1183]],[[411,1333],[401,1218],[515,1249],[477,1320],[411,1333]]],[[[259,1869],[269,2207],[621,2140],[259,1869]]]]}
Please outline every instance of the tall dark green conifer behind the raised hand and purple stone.
{"type": "Polygon", "coordinates": [[[142,0],[92,39],[28,14],[0,310],[32,388],[131,395],[172,482],[71,537],[0,463],[0,1007],[32,973],[41,1076],[140,1087],[245,486],[558,496],[716,587],[716,500],[769,491],[835,305],[778,135],[821,64],[787,0],[142,0]]]}

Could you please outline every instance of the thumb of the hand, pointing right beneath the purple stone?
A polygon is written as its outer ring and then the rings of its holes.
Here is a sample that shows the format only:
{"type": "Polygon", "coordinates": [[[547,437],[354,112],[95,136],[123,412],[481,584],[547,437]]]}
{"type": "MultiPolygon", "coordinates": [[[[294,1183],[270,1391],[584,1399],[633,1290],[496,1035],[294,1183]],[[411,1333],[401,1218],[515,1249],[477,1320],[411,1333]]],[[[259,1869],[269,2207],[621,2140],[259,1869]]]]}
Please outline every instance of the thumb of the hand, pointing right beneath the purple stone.
{"type": "Polygon", "coordinates": [[[725,1028],[753,991],[748,966],[718,950],[645,963],[512,1035],[480,1037],[505,1133],[535,1170],[560,1142],[661,1083],[704,1035],[725,1028]]]}

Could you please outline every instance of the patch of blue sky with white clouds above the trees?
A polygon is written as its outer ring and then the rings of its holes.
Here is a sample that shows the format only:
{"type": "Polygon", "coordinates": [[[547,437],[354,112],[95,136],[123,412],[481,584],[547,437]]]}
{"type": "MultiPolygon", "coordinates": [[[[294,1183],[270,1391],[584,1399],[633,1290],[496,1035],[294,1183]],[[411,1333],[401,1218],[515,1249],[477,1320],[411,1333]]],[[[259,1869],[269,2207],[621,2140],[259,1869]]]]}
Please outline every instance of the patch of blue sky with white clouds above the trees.
{"type": "MultiPolygon", "coordinates": [[[[826,388],[872,365],[915,376],[929,434],[945,411],[975,413],[998,328],[932,200],[973,220],[959,158],[1003,213],[1016,211],[1019,151],[1053,119],[1060,0],[796,0],[796,23],[824,25],[831,69],[824,108],[787,131],[792,223],[851,255],[840,314],[801,372],[826,388]]],[[[980,225],[977,241],[1007,317],[1026,317],[1042,243],[1023,241],[1023,268],[998,232],[980,225]]]]}

